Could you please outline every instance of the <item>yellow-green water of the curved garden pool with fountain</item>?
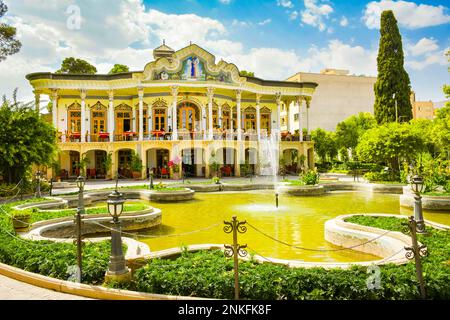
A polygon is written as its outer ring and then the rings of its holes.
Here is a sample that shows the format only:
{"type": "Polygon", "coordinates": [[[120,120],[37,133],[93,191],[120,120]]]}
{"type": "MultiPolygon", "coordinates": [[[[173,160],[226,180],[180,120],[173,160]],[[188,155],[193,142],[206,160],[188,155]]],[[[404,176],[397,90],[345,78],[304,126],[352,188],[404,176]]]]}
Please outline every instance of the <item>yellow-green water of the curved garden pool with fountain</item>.
{"type": "MultiPolygon", "coordinates": [[[[152,203],[162,210],[162,225],[141,235],[152,251],[187,244],[232,242],[232,235],[223,232],[223,221],[247,220],[268,235],[296,246],[313,249],[336,249],[324,239],[327,220],[348,213],[394,213],[412,215],[412,210],[400,208],[398,195],[365,192],[333,192],[320,197],[280,196],[275,208],[273,191],[196,193],[195,200],[185,203],[152,203]],[[201,232],[178,234],[217,226],[201,232]],[[152,238],[163,236],[161,238],[152,238]]],[[[450,225],[449,213],[424,213],[425,219],[450,225]]],[[[275,242],[252,228],[239,234],[239,243],[247,244],[250,252],[265,257],[304,261],[350,262],[379,259],[352,250],[314,252],[293,249],[275,242]]]]}

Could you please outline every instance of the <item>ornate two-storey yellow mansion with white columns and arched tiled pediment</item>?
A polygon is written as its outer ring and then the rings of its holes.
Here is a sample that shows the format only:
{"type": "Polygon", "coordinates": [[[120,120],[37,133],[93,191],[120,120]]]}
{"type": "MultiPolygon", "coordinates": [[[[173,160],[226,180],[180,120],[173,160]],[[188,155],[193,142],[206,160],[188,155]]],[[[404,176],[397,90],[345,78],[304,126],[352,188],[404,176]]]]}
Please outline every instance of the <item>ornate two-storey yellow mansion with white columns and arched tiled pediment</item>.
{"type": "Polygon", "coordinates": [[[136,154],[142,177],[173,176],[173,163],[189,176],[210,177],[213,167],[228,176],[244,168],[265,174],[274,148],[291,168],[314,166],[314,143],[300,139],[295,125],[281,131],[280,114],[293,102],[309,112],[316,83],[240,76],[234,64],[216,63],[195,44],[176,52],[163,44],[153,56],[142,72],[27,75],[36,104],[41,95],[52,101],[60,166],[54,176],[76,177],[81,161],[89,178],[131,177],[136,154]]]}

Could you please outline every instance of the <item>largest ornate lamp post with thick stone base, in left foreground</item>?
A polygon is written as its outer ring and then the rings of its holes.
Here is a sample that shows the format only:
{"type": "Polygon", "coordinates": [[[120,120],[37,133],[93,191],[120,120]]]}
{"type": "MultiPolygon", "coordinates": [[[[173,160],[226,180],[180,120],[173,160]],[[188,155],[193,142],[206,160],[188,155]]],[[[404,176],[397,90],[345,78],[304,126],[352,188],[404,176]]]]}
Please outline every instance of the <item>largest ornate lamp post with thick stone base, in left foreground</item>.
{"type": "Polygon", "coordinates": [[[113,224],[113,228],[111,231],[111,256],[105,280],[106,282],[127,282],[131,280],[131,274],[130,270],[126,266],[125,257],[122,252],[122,237],[119,221],[119,217],[123,211],[125,199],[116,188],[116,190],[108,196],[108,200],[106,202],[108,204],[109,214],[113,218],[113,221],[111,222],[113,224]]]}

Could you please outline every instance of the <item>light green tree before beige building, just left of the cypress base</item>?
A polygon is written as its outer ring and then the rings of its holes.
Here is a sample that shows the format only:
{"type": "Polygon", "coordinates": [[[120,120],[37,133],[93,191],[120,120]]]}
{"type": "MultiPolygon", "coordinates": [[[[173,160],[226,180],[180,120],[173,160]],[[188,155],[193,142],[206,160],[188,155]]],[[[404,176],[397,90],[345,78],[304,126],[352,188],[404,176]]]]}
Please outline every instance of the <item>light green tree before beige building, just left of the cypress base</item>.
{"type": "Polygon", "coordinates": [[[360,112],[339,122],[336,127],[336,142],[338,147],[353,151],[364,132],[373,128],[376,124],[375,118],[369,112],[360,112]]]}

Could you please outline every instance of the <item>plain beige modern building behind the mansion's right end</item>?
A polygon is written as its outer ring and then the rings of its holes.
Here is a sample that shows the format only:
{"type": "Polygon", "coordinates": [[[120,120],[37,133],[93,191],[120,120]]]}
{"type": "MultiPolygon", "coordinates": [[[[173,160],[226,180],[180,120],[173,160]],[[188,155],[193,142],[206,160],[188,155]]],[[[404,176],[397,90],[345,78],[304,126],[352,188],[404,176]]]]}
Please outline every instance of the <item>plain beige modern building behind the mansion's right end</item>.
{"type": "Polygon", "coordinates": [[[282,110],[281,129],[295,132],[300,127],[306,129],[309,125],[311,130],[322,128],[334,131],[339,122],[354,114],[373,114],[376,80],[376,77],[354,76],[350,75],[348,70],[336,69],[325,69],[320,73],[299,72],[293,75],[287,81],[315,82],[318,87],[309,108],[306,103],[294,102],[282,110]],[[311,109],[309,116],[308,109],[311,109]]]}

